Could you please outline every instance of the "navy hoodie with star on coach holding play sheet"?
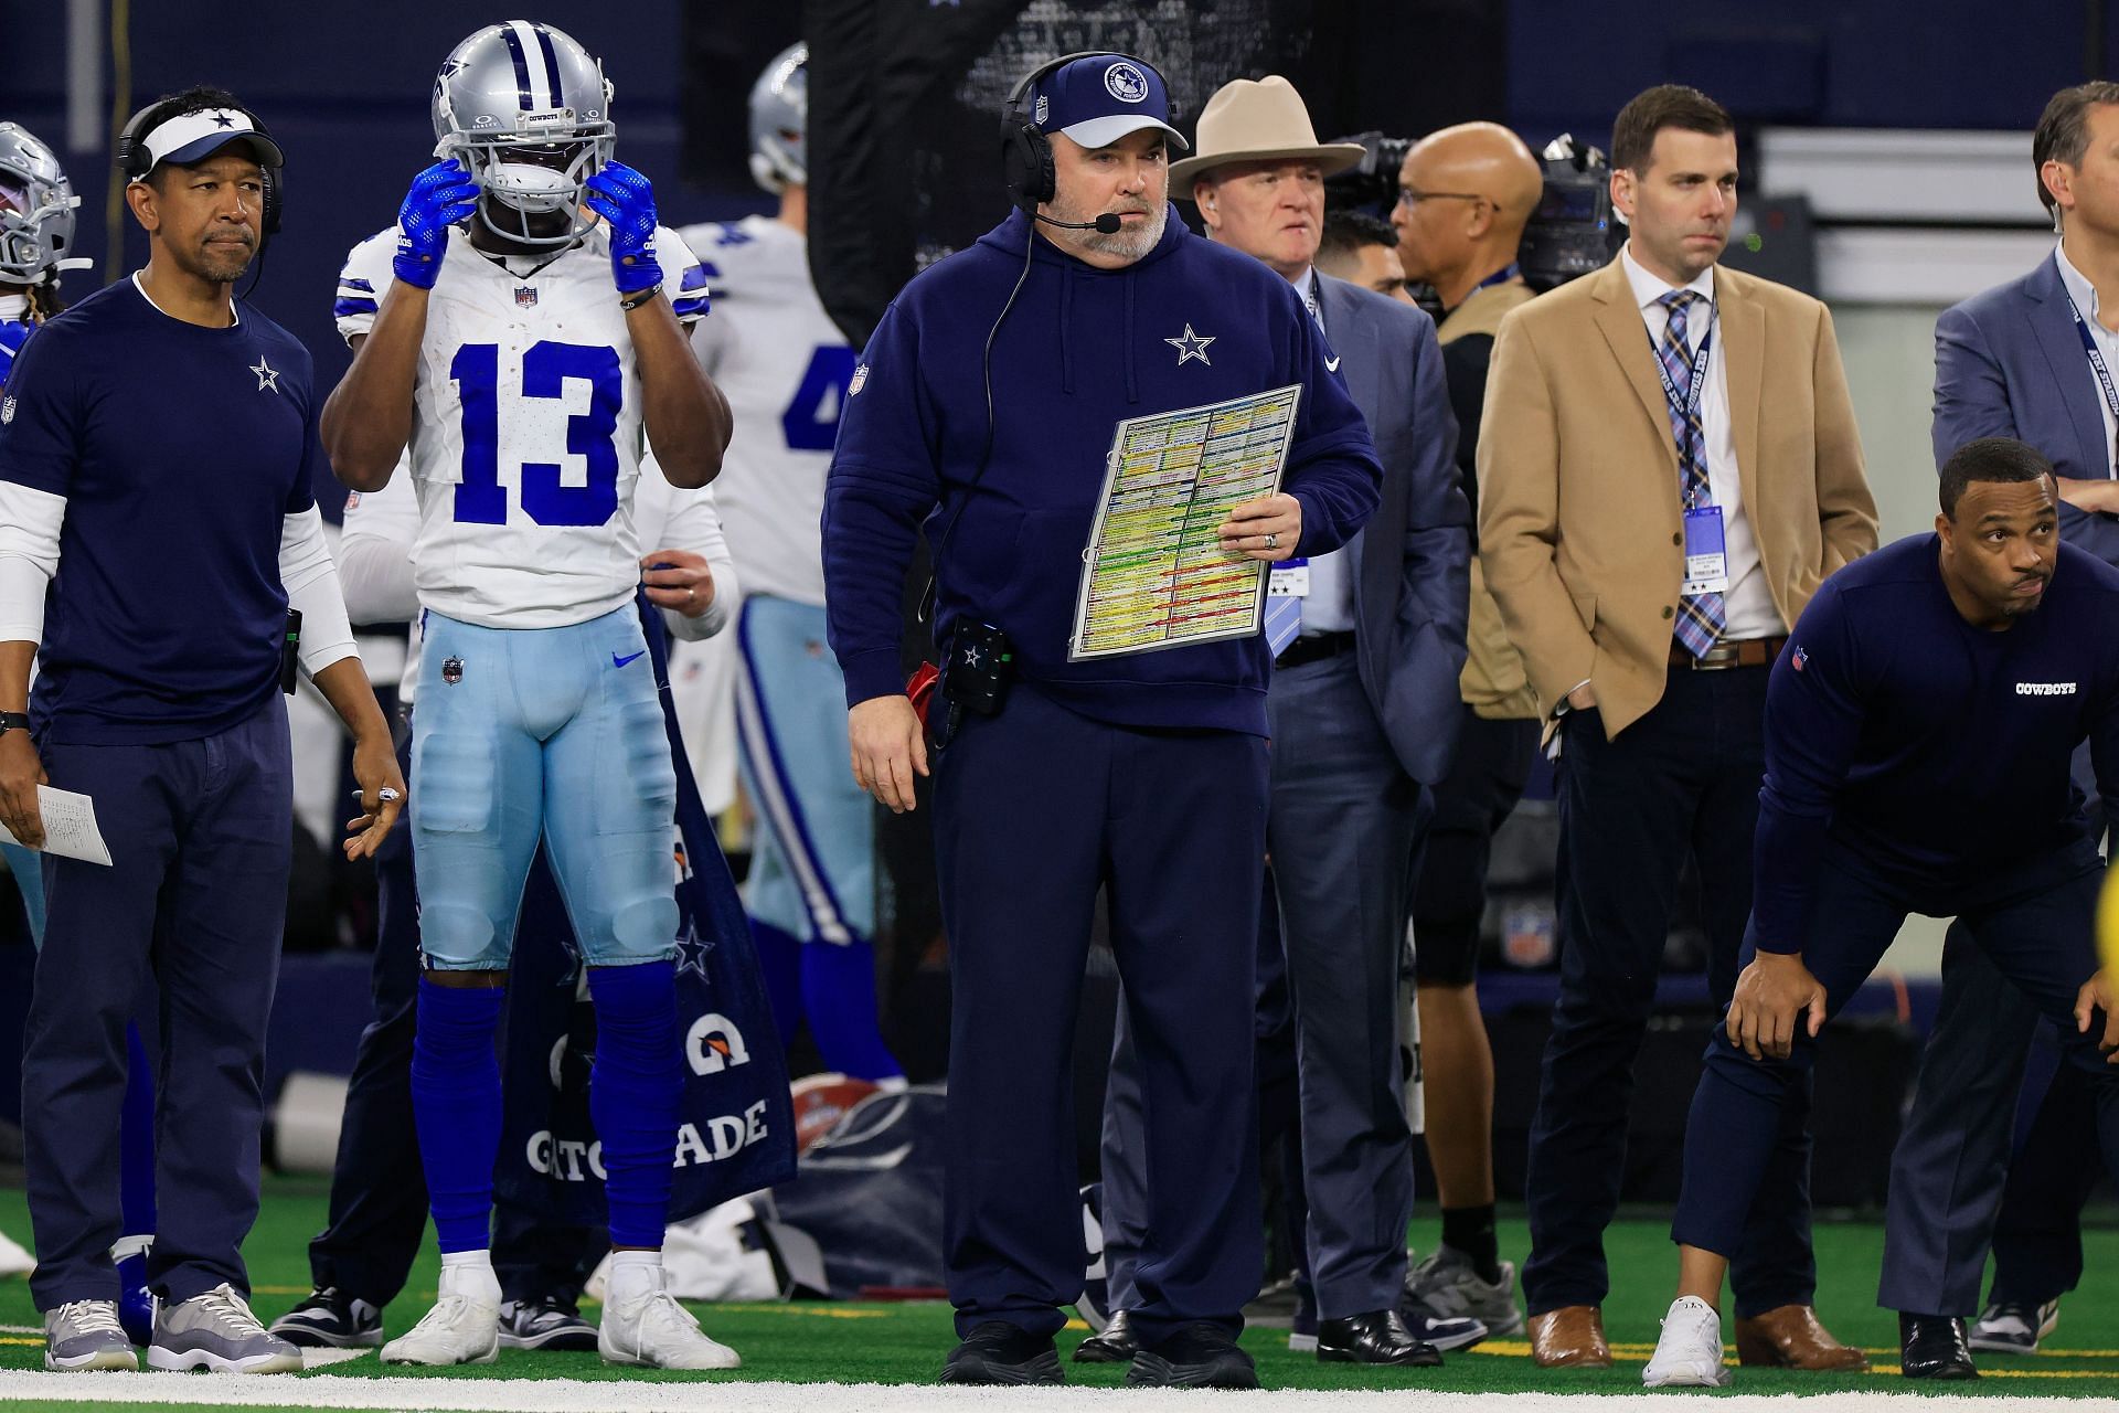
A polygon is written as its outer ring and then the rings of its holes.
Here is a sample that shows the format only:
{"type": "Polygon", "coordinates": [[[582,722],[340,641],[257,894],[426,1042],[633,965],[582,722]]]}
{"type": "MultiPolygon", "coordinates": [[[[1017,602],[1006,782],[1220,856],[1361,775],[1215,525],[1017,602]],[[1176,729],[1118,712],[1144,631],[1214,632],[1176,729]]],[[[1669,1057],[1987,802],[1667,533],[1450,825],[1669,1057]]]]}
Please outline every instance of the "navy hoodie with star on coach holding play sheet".
{"type": "Polygon", "coordinates": [[[1123,417],[1301,383],[1282,489],[1303,506],[1297,553],[1346,544],[1375,511],[1382,464],[1310,309],[1259,261],[1185,229],[1125,269],[1096,269],[1013,212],[926,269],[862,352],[824,489],[824,604],[848,703],[905,691],[905,570],[922,521],[943,544],[937,633],[985,619],[1017,676],[1062,705],[1127,727],[1265,735],[1263,633],[1068,661],[1083,549],[1123,417]],[[1023,278],[1023,244],[1030,273],[1023,278]],[[992,458],[981,356],[992,352],[992,458]],[[1176,343],[1191,335],[1185,356],[1176,343]]]}

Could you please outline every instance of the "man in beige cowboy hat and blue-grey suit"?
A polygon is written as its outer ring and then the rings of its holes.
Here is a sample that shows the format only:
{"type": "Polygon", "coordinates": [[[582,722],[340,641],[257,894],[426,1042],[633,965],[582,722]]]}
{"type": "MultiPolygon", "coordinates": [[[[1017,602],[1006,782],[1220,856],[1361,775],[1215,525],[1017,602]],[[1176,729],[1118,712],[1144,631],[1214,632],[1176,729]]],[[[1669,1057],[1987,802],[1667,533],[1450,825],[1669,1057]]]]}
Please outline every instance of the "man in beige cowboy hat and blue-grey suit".
{"type": "MultiPolygon", "coordinates": [[[[1399,955],[1428,786],[1447,773],[1458,731],[1471,511],[1452,460],[1456,419],[1432,320],[1314,271],[1324,176],[1358,159],[1360,146],[1316,140],[1286,78],[1237,78],[1208,102],[1197,155],[1170,167],[1170,191],[1191,193],[1210,239],[1301,290],[1333,347],[1331,366],[1346,362],[1339,375],[1384,462],[1384,500],[1369,525],[1343,549],[1278,566],[1274,576],[1274,591],[1301,604],[1301,625],[1280,650],[1265,705],[1267,845],[1301,1070],[1316,1352],[1333,1362],[1439,1364],[1435,1343],[1399,1313],[1413,1212],[1399,955]]],[[[1115,1089],[1104,1229],[1121,1233],[1112,1246],[1123,1250],[1132,1214],[1115,1208],[1129,1184],[1112,1167],[1138,1146],[1125,1142],[1123,1076],[1115,1089]]],[[[1112,1271],[1121,1307],[1125,1277],[1112,1271]]],[[[1468,1320],[1445,1324],[1454,1343],[1485,1332],[1468,1320]]]]}

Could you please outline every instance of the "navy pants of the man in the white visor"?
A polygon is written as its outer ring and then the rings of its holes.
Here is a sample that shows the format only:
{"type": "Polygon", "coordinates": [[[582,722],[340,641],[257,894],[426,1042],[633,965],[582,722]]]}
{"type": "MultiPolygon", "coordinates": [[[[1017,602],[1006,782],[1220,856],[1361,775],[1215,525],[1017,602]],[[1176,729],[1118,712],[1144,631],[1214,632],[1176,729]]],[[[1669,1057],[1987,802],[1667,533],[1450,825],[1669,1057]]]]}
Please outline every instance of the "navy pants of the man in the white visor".
{"type": "Polygon", "coordinates": [[[119,1299],[125,1021],[161,983],[159,1203],[148,1286],[227,1282],[259,1210],[265,1023],[280,972],[295,782],[278,693],[220,735],[42,750],[93,797],[112,866],[44,860],[49,922],[23,1040],[21,1119],[38,1309],[119,1299]]]}

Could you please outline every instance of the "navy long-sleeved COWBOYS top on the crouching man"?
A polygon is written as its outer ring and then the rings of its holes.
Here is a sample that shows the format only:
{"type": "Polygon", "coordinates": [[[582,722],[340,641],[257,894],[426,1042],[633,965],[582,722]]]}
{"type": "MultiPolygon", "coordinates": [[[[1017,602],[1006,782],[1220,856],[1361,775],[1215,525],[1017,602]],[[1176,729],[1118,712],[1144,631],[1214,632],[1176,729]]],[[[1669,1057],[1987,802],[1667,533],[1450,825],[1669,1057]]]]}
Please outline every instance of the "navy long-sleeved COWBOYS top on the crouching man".
{"type": "Polygon", "coordinates": [[[1909,536],[1827,578],[1774,663],[1759,951],[1803,949],[1827,839],[1939,915],[2081,873],[2085,737],[2119,820],[2119,570],[2062,544],[2045,602],[1994,633],[1949,602],[1939,549],[1909,536]]]}

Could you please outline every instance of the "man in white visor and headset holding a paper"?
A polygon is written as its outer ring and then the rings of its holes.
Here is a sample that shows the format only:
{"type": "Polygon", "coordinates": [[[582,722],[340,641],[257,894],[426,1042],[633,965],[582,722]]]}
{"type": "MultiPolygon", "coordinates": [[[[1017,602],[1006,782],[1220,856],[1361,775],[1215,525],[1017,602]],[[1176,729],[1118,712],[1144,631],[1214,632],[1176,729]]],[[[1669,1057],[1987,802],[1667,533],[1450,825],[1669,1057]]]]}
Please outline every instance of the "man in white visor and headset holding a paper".
{"type": "Polygon", "coordinates": [[[44,856],[23,1142],[51,1369],[136,1366],[108,1252],[125,1021],[150,966],[163,1066],[148,1364],[301,1369],[250,1316],[237,1250],[259,1210],[292,841],[292,625],[354,735],[348,856],[381,843],[405,782],[309,494],[326,475],[309,354],[231,292],[275,225],[280,163],[218,89],[133,117],[119,165],[146,269],[47,326],[0,403],[0,822],[42,845],[36,786],[78,790],[112,860],[44,856]]]}

